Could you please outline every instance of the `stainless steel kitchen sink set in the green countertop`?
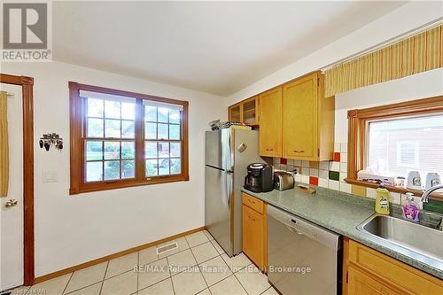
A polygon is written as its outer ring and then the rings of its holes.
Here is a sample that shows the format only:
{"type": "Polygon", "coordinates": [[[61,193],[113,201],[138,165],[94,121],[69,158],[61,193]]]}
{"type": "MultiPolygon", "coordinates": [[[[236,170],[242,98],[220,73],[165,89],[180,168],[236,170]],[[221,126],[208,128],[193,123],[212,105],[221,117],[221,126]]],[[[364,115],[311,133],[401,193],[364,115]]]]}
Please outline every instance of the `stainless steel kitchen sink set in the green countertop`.
{"type": "Polygon", "coordinates": [[[357,229],[443,262],[443,232],[440,230],[379,214],[369,217],[357,229]]]}

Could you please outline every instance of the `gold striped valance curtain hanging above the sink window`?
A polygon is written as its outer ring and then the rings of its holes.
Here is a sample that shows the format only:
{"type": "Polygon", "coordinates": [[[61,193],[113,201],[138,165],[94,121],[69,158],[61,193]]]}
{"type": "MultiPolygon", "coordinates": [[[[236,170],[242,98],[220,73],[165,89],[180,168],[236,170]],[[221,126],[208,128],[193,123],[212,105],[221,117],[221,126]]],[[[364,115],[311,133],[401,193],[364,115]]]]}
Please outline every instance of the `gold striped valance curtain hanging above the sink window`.
{"type": "Polygon", "coordinates": [[[325,71],[325,95],[443,67],[443,25],[325,71]]]}

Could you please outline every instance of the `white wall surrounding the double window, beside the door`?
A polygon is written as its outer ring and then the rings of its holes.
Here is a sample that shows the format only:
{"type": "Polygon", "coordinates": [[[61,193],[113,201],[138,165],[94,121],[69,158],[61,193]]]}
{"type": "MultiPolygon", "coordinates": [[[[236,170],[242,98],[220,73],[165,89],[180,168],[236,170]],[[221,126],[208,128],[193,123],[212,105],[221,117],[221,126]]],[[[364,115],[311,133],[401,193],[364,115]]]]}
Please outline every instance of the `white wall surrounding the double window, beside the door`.
{"type": "Polygon", "coordinates": [[[1,72],[35,78],[35,276],[204,225],[204,133],[209,120],[226,118],[223,97],[58,62],[1,72]],[[190,181],[69,196],[68,81],[188,100],[190,181]],[[63,151],[38,147],[49,132],[65,139],[63,151]],[[45,171],[58,182],[43,182],[45,171]]]}

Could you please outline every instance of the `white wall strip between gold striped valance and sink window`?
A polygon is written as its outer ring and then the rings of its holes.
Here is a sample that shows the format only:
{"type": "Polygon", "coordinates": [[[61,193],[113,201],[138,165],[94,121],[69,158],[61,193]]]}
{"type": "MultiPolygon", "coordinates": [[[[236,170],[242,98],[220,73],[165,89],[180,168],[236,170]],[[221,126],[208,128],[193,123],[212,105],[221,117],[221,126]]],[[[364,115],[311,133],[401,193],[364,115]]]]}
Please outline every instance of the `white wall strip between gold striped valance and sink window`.
{"type": "Polygon", "coordinates": [[[347,111],[443,95],[443,68],[340,93],[335,100],[335,142],[347,143],[347,111]]]}

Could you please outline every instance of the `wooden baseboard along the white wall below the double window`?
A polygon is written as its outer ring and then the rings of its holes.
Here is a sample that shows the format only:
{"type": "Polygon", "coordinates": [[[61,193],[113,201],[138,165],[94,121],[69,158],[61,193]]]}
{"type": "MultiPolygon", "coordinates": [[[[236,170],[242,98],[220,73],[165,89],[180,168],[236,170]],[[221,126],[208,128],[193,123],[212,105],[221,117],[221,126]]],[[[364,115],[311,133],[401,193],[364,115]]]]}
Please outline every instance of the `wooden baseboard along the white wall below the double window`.
{"type": "Polygon", "coordinates": [[[104,256],[102,258],[98,258],[97,260],[90,260],[88,262],[84,262],[82,264],[76,265],[76,266],[71,267],[71,268],[65,268],[65,269],[58,270],[58,271],[53,272],[53,273],[48,274],[48,275],[39,276],[39,277],[35,278],[34,283],[42,283],[44,281],[51,280],[54,277],[63,276],[63,275],[72,273],[75,270],[79,270],[79,269],[82,269],[82,268],[89,268],[89,267],[91,267],[93,265],[96,265],[98,263],[102,263],[102,262],[105,262],[107,260],[113,260],[113,259],[118,258],[120,256],[125,256],[125,255],[128,255],[128,254],[133,253],[133,252],[137,252],[137,251],[140,251],[140,250],[143,250],[143,249],[146,249],[146,248],[150,248],[150,247],[152,247],[154,245],[159,245],[159,244],[165,243],[167,241],[174,240],[175,238],[184,237],[184,236],[193,234],[193,233],[198,232],[198,231],[203,230],[203,229],[205,229],[205,227],[200,227],[200,228],[197,228],[197,229],[190,229],[188,231],[182,232],[180,234],[176,234],[176,235],[171,236],[171,237],[164,237],[162,239],[159,239],[158,241],[154,241],[154,242],[151,242],[151,243],[148,243],[148,244],[145,244],[145,245],[139,245],[139,246],[136,246],[134,248],[130,248],[128,250],[124,250],[124,251],[121,251],[121,252],[113,253],[111,255],[106,255],[106,256],[104,256]]]}

